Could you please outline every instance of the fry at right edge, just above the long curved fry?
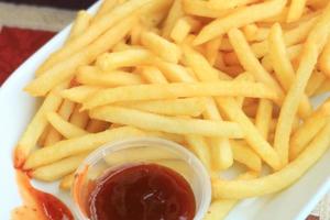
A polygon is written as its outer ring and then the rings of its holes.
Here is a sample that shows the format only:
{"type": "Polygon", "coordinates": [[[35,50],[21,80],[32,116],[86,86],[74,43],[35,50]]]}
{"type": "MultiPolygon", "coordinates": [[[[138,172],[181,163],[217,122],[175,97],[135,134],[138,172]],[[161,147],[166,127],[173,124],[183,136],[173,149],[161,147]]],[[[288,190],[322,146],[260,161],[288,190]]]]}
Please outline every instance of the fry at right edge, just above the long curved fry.
{"type": "Polygon", "coordinates": [[[322,103],[301,125],[295,131],[290,139],[289,158],[295,160],[307,146],[307,144],[326,125],[330,116],[330,100],[322,103]]]}

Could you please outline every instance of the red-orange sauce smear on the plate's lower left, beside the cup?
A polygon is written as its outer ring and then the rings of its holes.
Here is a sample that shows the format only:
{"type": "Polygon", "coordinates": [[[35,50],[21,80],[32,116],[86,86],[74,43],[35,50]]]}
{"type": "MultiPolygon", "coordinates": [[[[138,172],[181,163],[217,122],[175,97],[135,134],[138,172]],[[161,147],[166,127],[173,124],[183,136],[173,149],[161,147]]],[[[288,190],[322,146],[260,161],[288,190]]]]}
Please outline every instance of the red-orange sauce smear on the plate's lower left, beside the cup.
{"type": "Polygon", "coordinates": [[[35,189],[26,174],[16,172],[24,205],[13,210],[12,219],[74,220],[70,210],[51,194],[35,189]]]}

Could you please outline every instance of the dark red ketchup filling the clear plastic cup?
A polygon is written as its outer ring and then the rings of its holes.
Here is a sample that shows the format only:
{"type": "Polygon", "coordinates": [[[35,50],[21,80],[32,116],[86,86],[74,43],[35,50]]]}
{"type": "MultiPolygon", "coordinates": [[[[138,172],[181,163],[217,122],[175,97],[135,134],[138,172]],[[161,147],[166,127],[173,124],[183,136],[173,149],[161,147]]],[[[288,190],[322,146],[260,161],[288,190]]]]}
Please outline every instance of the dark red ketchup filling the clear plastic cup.
{"type": "Polygon", "coordinates": [[[178,173],[155,164],[108,172],[89,196],[91,220],[193,220],[194,193],[178,173]]]}

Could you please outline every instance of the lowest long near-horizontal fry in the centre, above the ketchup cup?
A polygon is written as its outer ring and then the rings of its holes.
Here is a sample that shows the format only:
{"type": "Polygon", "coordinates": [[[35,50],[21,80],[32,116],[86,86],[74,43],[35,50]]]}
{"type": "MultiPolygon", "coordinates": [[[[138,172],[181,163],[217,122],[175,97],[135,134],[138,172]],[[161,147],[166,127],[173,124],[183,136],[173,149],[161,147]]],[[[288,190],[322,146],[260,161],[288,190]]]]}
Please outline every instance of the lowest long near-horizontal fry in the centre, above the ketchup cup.
{"type": "Polygon", "coordinates": [[[241,128],[233,122],[164,117],[122,107],[100,107],[90,110],[89,116],[94,119],[112,123],[129,124],[145,130],[176,134],[199,134],[237,139],[244,136],[241,128]]]}

